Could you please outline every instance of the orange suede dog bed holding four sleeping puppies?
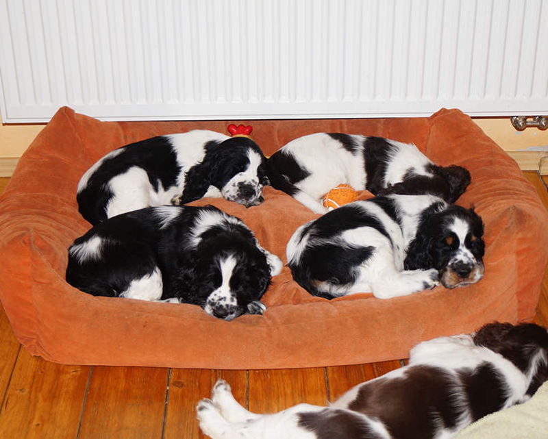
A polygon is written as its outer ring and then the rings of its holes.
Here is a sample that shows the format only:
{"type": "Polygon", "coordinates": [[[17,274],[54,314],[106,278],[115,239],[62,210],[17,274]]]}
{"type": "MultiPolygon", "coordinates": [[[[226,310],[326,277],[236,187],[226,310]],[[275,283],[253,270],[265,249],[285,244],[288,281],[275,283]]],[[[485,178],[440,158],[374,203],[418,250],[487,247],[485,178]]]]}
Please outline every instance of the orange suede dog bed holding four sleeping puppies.
{"type": "MultiPolygon", "coordinates": [[[[271,187],[264,196],[249,209],[223,199],[193,204],[239,216],[286,262],[293,231],[317,215],[271,187]]],[[[445,109],[429,118],[115,123],[62,108],[21,158],[0,199],[0,224],[0,299],[14,333],[33,355],[64,364],[245,369],[406,358],[421,340],[530,321],[548,259],[548,216],[534,188],[468,116],[445,109]],[[304,134],[338,131],[414,142],[438,164],[466,166],[472,183],[458,204],[475,205],[484,219],[484,279],[388,300],[364,293],[327,301],[284,267],[263,297],[264,315],[230,322],[195,305],[93,297],[66,283],[67,249],[90,228],[75,198],[89,166],[136,140],[225,133],[229,123],[252,125],[266,155],[304,134]]]]}

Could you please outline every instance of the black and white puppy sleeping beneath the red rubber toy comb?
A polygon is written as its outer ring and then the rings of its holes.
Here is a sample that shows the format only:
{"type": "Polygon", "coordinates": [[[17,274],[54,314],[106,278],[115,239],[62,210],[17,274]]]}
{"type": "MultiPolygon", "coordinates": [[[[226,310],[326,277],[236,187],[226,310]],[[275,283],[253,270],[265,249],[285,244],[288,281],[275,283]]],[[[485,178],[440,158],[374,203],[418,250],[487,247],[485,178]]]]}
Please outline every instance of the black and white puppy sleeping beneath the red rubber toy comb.
{"type": "Polygon", "coordinates": [[[82,175],[76,199],[94,225],[132,210],[202,197],[249,207],[263,201],[265,172],[266,159],[253,140],[197,129],[111,151],[82,175]]]}

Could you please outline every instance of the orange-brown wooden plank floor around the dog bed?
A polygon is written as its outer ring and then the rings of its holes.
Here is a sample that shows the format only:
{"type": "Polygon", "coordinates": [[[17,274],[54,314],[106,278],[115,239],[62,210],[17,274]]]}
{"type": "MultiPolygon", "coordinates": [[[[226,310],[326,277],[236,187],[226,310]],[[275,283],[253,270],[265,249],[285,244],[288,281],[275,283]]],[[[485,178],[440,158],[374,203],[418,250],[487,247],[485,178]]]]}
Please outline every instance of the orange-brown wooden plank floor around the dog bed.
{"type": "MultiPolygon", "coordinates": [[[[524,175],[548,210],[548,178],[524,175]]],[[[7,181],[0,178],[0,193],[7,181]]],[[[535,322],[548,325],[548,275],[535,322]]],[[[195,406],[218,377],[249,410],[272,412],[334,401],[402,364],[268,371],[66,366],[29,355],[0,308],[0,438],[201,438],[195,406]]]]}

